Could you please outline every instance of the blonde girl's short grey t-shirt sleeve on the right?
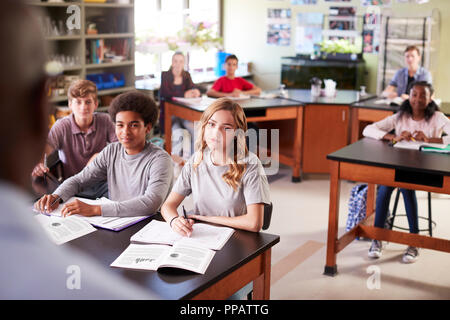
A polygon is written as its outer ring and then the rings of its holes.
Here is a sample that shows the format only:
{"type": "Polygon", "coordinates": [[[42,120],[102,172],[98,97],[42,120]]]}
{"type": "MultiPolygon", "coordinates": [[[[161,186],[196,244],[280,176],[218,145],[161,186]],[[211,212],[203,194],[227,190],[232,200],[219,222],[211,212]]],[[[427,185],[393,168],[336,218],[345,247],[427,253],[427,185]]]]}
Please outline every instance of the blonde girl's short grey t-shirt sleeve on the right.
{"type": "Polygon", "coordinates": [[[269,182],[259,159],[257,163],[247,166],[242,179],[242,188],[247,206],[255,203],[270,204],[269,182]]]}

